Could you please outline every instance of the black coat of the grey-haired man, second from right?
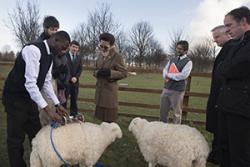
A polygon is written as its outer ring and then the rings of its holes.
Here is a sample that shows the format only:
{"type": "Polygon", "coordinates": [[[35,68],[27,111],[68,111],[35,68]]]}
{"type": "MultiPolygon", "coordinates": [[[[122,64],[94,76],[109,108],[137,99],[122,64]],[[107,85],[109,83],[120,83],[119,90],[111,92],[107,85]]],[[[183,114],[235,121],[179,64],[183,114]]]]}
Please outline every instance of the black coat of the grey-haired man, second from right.
{"type": "Polygon", "coordinates": [[[207,102],[207,109],[206,109],[206,129],[209,132],[215,133],[218,126],[218,118],[217,118],[217,97],[220,91],[221,86],[223,85],[224,78],[218,73],[217,67],[221,63],[223,63],[225,57],[227,56],[229,50],[233,47],[235,41],[229,40],[227,41],[222,49],[220,50],[219,54],[215,58],[214,66],[212,70],[212,77],[211,77],[211,87],[210,87],[210,94],[208,97],[207,102]]]}

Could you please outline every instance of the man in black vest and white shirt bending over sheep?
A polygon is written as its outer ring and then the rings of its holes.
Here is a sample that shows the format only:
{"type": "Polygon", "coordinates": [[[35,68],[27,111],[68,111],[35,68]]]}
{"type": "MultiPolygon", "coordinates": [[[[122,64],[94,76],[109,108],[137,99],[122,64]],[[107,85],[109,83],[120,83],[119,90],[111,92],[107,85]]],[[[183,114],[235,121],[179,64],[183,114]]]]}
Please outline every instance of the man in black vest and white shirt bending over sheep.
{"type": "Polygon", "coordinates": [[[7,113],[7,146],[11,167],[25,167],[23,142],[40,130],[38,108],[60,123],[66,111],[60,106],[51,84],[52,55],[63,56],[69,47],[67,32],[59,31],[48,40],[26,45],[16,58],[4,85],[3,104],[7,113]],[[51,54],[52,53],[52,54],[51,54]],[[41,91],[57,107],[54,112],[41,91]]]}

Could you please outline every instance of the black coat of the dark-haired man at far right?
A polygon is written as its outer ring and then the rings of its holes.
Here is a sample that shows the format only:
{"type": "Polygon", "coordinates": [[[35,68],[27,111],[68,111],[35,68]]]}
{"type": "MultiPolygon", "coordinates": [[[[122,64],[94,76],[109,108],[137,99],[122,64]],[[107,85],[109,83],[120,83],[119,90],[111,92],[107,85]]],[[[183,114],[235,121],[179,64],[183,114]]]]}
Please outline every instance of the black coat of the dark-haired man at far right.
{"type": "Polygon", "coordinates": [[[250,118],[250,31],[231,49],[219,70],[225,77],[217,100],[219,110],[250,118]]]}

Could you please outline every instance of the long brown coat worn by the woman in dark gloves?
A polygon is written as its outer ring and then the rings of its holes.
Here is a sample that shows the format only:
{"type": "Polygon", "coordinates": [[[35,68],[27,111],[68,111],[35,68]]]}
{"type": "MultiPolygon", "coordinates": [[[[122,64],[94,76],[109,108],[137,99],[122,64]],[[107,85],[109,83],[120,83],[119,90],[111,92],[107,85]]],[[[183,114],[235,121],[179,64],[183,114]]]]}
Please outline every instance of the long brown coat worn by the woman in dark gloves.
{"type": "Polygon", "coordinates": [[[110,50],[107,58],[100,54],[96,60],[96,68],[94,76],[101,68],[111,69],[109,78],[97,78],[95,101],[96,106],[105,108],[118,107],[118,84],[117,81],[127,77],[127,68],[124,64],[122,56],[115,51],[110,50]]]}

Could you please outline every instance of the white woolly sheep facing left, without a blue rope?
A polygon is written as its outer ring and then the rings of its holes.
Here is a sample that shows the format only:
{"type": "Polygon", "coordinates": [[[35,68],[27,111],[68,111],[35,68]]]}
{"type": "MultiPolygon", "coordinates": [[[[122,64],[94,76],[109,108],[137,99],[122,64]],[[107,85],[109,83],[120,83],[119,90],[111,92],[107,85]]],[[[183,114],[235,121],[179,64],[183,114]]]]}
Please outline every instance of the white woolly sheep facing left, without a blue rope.
{"type": "Polygon", "coordinates": [[[202,134],[187,125],[134,118],[128,127],[149,167],[205,167],[209,146],[202,134]]]}

